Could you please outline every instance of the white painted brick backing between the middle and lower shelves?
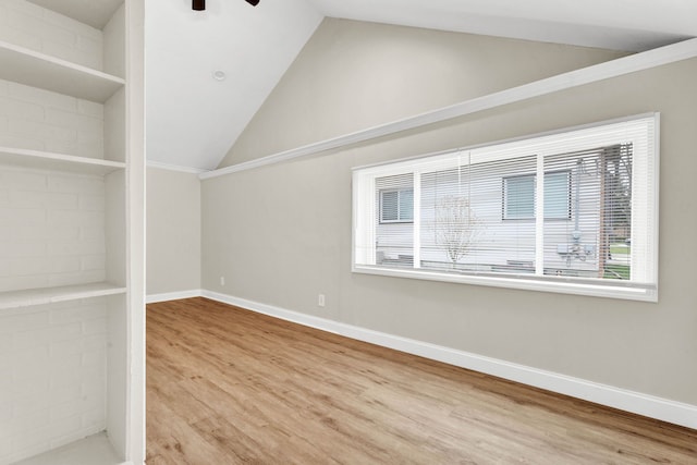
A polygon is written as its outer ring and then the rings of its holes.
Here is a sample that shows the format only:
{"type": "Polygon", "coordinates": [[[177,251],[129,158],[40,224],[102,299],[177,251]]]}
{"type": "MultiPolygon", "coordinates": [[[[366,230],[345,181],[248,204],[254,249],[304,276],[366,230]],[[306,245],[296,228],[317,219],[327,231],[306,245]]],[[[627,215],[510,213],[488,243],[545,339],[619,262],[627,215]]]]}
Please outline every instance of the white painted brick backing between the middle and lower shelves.
{"type": "Polygon", "coordinates": [[[0,292],[105,280],[105,181],[0,166],[0,292]]]}

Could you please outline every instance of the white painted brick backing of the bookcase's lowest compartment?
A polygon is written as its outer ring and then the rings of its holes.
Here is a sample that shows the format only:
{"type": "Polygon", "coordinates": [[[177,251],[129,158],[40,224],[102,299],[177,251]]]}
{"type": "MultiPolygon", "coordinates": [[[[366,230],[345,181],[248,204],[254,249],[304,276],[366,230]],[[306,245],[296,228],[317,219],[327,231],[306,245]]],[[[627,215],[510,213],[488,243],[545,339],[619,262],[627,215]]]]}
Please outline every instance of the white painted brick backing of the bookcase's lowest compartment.
{"type": "Polygon", "coordinates": [[[0,310],[0,465],[106,427],[105,297],[0,310]]]}

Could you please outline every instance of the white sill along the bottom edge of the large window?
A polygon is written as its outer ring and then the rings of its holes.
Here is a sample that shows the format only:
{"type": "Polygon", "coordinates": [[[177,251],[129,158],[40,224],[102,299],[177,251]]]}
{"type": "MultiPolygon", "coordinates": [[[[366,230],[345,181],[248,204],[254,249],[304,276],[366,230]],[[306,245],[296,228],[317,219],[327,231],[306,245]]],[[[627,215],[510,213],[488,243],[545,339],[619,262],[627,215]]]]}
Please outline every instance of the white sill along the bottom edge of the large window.
{"type": "Polygon", "coordinates": [[[398,269],[368,265],[354,265],[352,271],[363,274],[419,279],[426,281],[454,282],[461,284],[587,295],[592,297],[620,298],[626,301],[658,302],[658,290],[656,287],[612,285],[607,281],[603,281],[602,284],[592,284],[587,282],[571,282],[567,280],[535,279],[529,274],[508,278],[504,276],[456,274],[424,269],[398,269]]]}

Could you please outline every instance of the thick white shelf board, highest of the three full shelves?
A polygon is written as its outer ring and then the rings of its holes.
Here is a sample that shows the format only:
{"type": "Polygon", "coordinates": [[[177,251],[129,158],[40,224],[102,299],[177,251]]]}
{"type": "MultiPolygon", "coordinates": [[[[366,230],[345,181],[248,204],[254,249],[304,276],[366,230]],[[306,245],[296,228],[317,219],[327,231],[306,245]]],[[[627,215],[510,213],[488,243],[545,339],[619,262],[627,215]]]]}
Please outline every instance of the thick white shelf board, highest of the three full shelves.
{"type": "Polygon", "coordinates": [[[0,78],[103,103],[121,77],[0,40],[0,78]]]}

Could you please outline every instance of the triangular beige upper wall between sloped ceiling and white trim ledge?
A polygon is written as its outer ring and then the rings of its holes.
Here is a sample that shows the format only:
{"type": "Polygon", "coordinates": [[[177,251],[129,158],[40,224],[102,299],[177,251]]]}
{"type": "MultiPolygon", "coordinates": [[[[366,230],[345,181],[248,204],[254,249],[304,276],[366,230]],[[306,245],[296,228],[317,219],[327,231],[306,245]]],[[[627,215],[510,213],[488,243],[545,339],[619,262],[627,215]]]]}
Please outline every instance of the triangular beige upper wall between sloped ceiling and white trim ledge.
{"type": "Polygon", "coordinates": [[[582,47],[327,19],[220,166],[621,56],[582,47]]]}

